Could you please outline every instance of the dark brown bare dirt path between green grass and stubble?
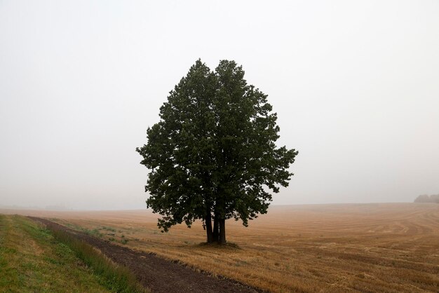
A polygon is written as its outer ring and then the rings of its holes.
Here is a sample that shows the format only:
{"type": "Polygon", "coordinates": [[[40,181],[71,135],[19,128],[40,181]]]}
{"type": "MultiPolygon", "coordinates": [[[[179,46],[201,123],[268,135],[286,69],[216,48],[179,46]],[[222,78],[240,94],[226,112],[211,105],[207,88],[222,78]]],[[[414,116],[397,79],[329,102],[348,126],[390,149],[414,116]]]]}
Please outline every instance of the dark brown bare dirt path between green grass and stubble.
{"type": "Polygon", "coordinates": [[[212,275],[208,275],[208,273],[199,273],[191,268],[161,259],[147,252],[130,250],[128,247],[107,243],[104,240],[74,231],[47,219],[29,218],[45,224],[50,229],[66,231],[97,247],[112,261],[130,268],[137,279],[145,287],[151,289],[152,292],[262,292],[234,280],[215,278],[212,275]]]}

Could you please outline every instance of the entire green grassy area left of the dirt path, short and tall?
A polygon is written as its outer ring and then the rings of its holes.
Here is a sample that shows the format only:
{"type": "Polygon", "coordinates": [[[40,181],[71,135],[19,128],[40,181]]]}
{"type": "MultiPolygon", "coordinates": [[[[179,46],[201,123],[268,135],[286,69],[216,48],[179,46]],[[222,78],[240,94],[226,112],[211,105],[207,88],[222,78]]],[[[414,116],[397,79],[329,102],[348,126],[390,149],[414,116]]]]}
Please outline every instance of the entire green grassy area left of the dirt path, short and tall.
{"type": "Polygon", "coordinates": [[[0,292],[147,292],[128,268],[27,217],[0,214],[0,292]]]}

